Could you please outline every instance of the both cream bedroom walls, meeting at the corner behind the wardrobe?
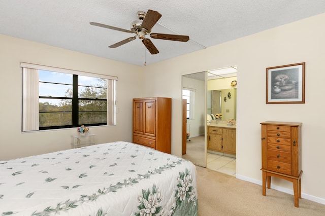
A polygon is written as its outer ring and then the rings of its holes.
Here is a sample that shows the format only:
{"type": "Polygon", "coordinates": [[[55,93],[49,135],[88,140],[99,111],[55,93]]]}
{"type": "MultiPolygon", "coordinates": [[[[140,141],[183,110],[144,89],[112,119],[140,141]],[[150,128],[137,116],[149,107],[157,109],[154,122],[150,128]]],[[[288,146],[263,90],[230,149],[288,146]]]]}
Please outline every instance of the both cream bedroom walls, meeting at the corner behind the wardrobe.
{"type": "MultiPolygon", "coordinates": [[[[98,142],[132,140],[133,97],[172,97],[172,154],[177,156],[182,152],[182,75],[237,65],[237,177],[262,184],[259,123],[302,122],[302,196],[325,204],[325,145],[320,136],[325,130],[320,91],[325,80],[324,25],[321,14],[146,67],[0,35],[0,160],[69,149],[75,133],[21,133],[20,61],[118,76],[117,126],[91,128],[98,142]],[[266,67],[299,62],[306,62],[306,103],[266,104],[266,67]],[[139,88],[144,83],[146,89],[139,88]]],[[[277,190],[293,193],[287,181],[272,183],[277,190]]]]}

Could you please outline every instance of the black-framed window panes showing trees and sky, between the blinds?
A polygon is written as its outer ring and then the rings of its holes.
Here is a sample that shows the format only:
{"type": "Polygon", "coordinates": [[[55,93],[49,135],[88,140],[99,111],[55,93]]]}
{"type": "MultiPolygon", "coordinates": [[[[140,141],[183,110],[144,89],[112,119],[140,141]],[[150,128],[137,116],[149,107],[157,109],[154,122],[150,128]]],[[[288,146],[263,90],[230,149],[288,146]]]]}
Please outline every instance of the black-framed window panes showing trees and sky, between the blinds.
{"type": "Polygon", "coordinates": [[[39,70],[40,129],[106,125],[107,81],[39,70]]]}

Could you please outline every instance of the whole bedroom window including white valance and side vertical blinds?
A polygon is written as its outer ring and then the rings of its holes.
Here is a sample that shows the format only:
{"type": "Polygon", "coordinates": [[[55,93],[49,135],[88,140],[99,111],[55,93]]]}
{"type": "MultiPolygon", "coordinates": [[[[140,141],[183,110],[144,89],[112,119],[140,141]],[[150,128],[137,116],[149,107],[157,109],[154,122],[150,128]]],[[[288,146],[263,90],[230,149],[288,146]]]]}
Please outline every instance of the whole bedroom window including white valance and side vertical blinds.
{"type": "Polygon", "coordinates": [[[22,131],[115,125],[116,77],[21,63],[22,131]]]}

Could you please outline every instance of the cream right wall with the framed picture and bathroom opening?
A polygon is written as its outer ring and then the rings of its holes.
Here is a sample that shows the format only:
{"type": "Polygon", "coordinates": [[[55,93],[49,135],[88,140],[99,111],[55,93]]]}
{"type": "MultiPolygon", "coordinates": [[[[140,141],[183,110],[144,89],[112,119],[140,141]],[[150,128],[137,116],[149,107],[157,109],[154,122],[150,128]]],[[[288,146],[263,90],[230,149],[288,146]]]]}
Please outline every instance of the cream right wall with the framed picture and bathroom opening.
{"type": "MultiPolygon", "coordinates": [[[[302,196],[325,204],[321,171],[325,145],[320,136],[325,131],[320,91],[325,80],[324,25],[321,14],[146,66],[144,82],[155,84],[148,92],[173,98],[172,153],[181,156],[181,76],[237,65],[237,177],[262,184],[259,123],[302,122],[302,196]],[[266,104],[266,68],[299,62],[306,62],[305,104],[266,104]]],[[[291,183],[276,178],[272,183],[273,188],[293,194],[291,183]]]]}

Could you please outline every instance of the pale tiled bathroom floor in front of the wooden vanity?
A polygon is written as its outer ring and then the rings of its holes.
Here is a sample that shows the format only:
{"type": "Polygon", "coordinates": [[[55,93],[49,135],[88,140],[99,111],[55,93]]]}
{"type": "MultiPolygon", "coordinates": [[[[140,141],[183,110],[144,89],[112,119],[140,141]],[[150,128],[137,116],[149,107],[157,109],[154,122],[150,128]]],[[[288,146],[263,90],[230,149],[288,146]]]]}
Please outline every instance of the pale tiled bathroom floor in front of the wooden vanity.
{"type": "Polygon", "coordinates": [[[208,153],[207,168],[236,176],[236,158],[208,153]]]}

